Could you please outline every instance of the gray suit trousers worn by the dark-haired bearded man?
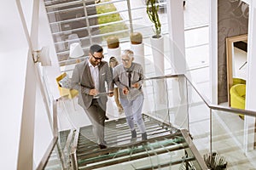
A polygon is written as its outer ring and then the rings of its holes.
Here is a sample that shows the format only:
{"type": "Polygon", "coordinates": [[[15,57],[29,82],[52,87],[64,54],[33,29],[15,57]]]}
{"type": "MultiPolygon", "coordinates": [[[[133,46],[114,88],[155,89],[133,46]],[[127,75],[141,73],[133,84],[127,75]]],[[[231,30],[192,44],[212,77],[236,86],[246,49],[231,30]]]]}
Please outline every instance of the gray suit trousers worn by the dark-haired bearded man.
{"type": "Polygon", "coordinates": [[[96,143],[105,145],[104,126],[106,111],[102,110],[97,99],[92,99],[90,107],[88,109],[84,109],[84,111],[92,124],[92,131],[96,137],[96,143]]]}

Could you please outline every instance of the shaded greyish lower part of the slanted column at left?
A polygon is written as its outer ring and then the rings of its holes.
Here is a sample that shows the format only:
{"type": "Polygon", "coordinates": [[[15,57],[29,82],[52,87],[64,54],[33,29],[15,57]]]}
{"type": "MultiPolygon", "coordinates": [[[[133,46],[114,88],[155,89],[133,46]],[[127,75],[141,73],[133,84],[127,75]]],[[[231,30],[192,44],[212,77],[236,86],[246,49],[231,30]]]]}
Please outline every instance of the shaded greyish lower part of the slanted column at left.
{"type": "Polygon", "coordinates": [[[26,84],[20,127],[20,146],[17,169],[32,169],[34,148],[34,121],[37,80],[32,56],[28,54],[26,84]]]}

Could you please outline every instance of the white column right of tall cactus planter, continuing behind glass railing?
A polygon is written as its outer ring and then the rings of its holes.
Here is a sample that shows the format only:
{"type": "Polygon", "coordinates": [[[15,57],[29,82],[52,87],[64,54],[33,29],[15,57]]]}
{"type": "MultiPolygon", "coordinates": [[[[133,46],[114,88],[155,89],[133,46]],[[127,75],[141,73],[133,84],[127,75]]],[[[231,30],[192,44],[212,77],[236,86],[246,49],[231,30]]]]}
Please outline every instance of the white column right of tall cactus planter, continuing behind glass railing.
{"type": "MultiPolygon", "coordinates": [[[[184,20],[183,20],[183,1],[167,1],[168,28],[170,42],[170,56],[172,74],[185,74],[186,58],[185,58],[185,42],[184,42],[184,20]]],[[[174,126],[188,129],[188,99],[186,82],[183,78],[178,81],[173,80],[172,95],[173,106],[177,106],[174,116],[170,120],[174,126]],[[173,120],[174,117],[174,120],[173,120]]]]}

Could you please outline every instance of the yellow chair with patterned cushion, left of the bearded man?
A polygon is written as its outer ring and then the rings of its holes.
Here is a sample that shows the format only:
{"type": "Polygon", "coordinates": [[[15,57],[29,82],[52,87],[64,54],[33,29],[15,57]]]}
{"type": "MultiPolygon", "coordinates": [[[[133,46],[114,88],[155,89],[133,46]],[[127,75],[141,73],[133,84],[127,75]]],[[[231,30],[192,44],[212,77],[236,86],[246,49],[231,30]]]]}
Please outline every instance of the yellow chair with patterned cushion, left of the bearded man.
{"type": "MultiPolygon", "coordinates": [[[[57,84],[58,84],[60,95],[61,95],[61,97],[67,96],[69,99],[72,99],[72,102],[73,102],[73,98],[76,97],[79,94],[79,91],[76,90],[76,89],[70,89],[70,88],[61,87],[61,83],[60,82],[61,82],[61,80],[64,77],[67,77],[67,73],[66,72],[62,73],[61,76],[56,77],[56,81],[57,81],[57,84]]],[[[74,103],[73,103],[73,107],[75,109],[74,103]]]]}

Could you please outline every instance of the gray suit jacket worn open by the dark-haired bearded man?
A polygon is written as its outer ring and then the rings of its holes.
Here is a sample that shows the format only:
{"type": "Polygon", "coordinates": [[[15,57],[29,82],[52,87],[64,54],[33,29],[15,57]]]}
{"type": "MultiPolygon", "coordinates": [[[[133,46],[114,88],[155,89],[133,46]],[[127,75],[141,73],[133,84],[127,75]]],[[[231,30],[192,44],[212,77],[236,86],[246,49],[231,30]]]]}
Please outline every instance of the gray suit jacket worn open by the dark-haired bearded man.
{"type": "MultiPolygon", "coordinates": [[[[72,88],[79,90],[79,105],[84,109],[90,107],[93,99],[92,95],[89,95],[90,89],[95,88],[93,78],[90,74],[90,67],[88,65],[89,60],[85,59],[83,62],[75,65],[72,76],[72,88]]],[[[106,61],[102,61],[99,65],[99,92],[106,92],[105,82],[108,84],[108,90],[113,90],[113,79],[110,68],[106,61]]],[[[106,111],[106,103],[108,96],[102,96],[98,99],[102,109],[106,111]]]]}

